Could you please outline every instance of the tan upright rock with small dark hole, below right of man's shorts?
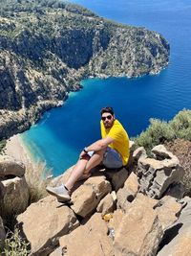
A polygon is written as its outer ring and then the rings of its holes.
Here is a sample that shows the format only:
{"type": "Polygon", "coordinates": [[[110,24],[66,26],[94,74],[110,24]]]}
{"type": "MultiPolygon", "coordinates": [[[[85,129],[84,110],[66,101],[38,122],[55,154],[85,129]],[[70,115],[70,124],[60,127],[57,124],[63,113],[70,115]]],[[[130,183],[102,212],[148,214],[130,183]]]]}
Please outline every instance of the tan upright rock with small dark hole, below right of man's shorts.
{"type": "Polygon", "coordinates": [[[117,207],[126,211],[128,202],[132,202],[138,193],[138,176],[131,173],[126,179],[124,186],[117,191],[117,207]]]}

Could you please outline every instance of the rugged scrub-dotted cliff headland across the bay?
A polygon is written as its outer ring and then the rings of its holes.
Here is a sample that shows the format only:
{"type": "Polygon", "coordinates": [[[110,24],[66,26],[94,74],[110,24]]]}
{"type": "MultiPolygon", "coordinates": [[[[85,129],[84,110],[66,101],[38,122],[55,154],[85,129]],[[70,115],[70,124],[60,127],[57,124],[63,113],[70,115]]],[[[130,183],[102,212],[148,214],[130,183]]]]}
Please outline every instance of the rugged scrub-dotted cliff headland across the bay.
{"type": "Polygon", "coordinates": [[[138,77],[168,64],[169,44],[56,1],[2,1],[0,138],[28,128],[89,76],[138,77]]]}

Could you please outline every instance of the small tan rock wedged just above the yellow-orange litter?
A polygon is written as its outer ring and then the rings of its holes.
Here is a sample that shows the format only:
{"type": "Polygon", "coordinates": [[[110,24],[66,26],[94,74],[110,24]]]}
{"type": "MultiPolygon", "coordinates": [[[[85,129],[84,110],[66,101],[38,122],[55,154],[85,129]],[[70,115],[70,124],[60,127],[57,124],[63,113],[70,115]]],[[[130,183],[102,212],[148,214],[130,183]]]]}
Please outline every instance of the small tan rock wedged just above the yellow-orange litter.
{"type": "Polygon", "coordinates": [[[113,213],[115,209],[115,201],[111,194],[108,194],[105,196],[105,198],[102,198],[96,207],[96,211],[101,213],[102,216],[107,213],[113,213]]]}

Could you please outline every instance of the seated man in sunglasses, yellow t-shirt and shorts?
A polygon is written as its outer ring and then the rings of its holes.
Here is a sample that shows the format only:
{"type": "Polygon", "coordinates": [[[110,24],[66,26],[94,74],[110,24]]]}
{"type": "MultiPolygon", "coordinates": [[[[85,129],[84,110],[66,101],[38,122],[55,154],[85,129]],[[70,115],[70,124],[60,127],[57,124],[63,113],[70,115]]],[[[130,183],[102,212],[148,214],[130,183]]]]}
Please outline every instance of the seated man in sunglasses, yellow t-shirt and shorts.
{"type": "Polygon", "coordinates": [[[67,182],[59,187],[47,187],[47,191],[59,201],[70,200],[70,191],[79,178],[88,178],[91,170],[102,163],[106,168],[117,169],[125,166],[129,158],[129,138],[117,121],[111,106],[101,109],[101,137],[84,148],[74,165],[67,182]]]}

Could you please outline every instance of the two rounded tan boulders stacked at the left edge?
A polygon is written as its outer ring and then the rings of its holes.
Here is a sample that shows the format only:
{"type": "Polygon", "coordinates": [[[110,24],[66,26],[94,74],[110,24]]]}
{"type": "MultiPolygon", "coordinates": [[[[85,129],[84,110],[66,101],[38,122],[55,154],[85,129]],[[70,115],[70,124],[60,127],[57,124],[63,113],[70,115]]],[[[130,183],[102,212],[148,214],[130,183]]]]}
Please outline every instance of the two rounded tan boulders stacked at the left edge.
{"type": "Polygon", "coordinates": [[[20,214],[29,204],[29,187],[25,179],[25,167],[10,156],[0,157],[0,216],[6,219],[20,214]]]}

